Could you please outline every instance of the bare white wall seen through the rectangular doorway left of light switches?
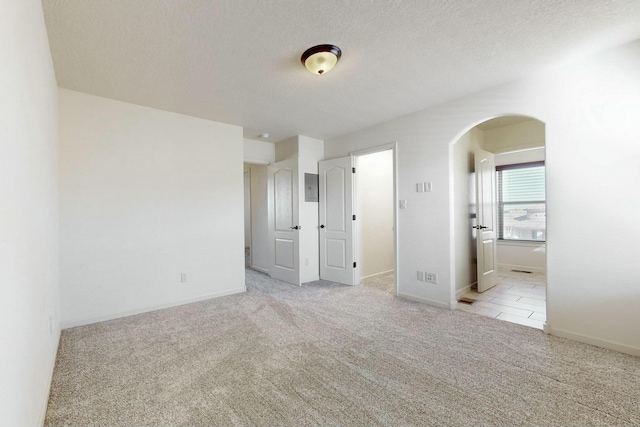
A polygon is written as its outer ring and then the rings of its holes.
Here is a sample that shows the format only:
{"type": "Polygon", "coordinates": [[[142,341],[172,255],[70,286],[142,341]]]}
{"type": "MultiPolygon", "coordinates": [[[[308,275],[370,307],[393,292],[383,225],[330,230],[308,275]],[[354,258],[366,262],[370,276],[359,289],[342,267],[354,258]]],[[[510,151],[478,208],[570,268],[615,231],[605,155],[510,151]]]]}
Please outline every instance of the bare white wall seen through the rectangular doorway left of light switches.
{"type": "Polygon", "coordinates": [[[360,279],[393,271],[393,151],[357,157],[360,279]]]}

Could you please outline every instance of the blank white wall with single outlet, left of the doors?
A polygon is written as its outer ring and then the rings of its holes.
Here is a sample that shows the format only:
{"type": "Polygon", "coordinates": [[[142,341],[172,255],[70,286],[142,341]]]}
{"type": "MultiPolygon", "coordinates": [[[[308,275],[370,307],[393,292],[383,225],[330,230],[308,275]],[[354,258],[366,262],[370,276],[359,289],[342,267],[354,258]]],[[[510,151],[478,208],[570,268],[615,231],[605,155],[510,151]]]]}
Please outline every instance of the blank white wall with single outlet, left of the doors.
{"type": "Polygon", "coordinates": [[[241,128],[63,89],[59,116],[64,325],[244,291],[241,128]]]}

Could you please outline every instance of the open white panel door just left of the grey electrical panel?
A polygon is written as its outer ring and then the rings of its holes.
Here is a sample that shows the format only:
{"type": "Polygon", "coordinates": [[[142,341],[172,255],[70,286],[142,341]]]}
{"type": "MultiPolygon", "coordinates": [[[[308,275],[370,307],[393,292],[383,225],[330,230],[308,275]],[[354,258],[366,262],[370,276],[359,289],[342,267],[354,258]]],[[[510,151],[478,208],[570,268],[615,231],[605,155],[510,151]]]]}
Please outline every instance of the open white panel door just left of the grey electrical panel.
{"type": "Polygon", "coordinates": [[[295,159],[269,166],[270,240],[273,266],[269,275],[300,285],[298,171],[295,159]]]}

